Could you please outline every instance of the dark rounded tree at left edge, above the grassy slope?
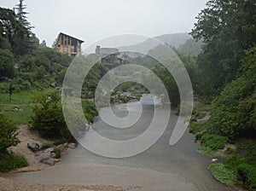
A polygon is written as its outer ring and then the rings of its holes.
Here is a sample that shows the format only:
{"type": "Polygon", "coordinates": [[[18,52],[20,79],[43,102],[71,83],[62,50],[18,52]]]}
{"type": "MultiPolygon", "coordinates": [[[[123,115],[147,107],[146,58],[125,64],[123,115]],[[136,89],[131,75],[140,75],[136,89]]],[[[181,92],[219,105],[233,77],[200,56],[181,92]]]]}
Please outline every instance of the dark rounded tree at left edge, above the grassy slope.
{"type": "Polygon", "coordinates": [[[0,80],[15,74],[15,58],[9,49],[0,49],[0,80]]]}

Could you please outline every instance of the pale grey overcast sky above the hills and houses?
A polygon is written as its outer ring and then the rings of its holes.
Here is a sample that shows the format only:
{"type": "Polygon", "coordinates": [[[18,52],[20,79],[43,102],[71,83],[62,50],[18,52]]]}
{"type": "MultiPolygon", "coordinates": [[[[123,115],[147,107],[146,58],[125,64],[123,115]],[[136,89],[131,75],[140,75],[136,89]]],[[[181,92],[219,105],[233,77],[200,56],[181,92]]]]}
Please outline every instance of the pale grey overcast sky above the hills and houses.
{"type": "MultiPolygon", "coordinates": [[[[12,9],[19,0],[1,0],[12,9]]],[[[84,46],[119,34],[149,37],[190,32],[207,0],[25,0],[33,32],[51,47],[59,32],[84,46]]]]}

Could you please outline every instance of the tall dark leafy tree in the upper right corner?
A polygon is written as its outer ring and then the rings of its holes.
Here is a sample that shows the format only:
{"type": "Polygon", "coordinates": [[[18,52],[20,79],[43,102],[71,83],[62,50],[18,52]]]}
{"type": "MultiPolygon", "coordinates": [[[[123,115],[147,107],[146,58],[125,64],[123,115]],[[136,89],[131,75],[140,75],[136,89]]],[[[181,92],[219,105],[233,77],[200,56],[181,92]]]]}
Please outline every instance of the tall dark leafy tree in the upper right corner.
{"type": "Polygon", "coordinates": [[[196,17],[191,34],[205,43],[198,58],[204,95],[218,93],[236,78],[244,50],[256,42],[255,17],[254,0],[210,0],[196,17]]]}

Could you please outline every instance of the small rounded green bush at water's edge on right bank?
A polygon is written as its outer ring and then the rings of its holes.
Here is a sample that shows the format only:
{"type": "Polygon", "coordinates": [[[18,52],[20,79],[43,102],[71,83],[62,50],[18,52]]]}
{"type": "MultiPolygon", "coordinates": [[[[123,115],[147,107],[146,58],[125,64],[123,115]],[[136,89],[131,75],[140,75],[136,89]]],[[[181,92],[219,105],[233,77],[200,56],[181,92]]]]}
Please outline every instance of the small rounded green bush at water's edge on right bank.
{"type": "Polygon", "coordinates": [[[212,150],[214,151],[224,148],[227,142],[228,138],[224,136],[218,136],[213,134],[206,134],[201,136],[201,145],[204,147],[212,148],[212,150]]]}

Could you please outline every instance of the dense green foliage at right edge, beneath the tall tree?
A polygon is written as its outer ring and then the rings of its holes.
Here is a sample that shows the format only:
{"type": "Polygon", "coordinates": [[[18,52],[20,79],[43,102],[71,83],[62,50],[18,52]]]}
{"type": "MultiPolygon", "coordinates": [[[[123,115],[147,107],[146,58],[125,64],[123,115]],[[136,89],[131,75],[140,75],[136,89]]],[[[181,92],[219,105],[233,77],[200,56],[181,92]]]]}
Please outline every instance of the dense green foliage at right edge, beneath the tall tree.
{"type": "Polygon", "coordinates": [[[236,138],[243,130],[256,130],[256,48],[247,51],[241,77],[228,84],[213,102],[207,126],[212,133],[236,138]]]}

